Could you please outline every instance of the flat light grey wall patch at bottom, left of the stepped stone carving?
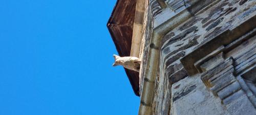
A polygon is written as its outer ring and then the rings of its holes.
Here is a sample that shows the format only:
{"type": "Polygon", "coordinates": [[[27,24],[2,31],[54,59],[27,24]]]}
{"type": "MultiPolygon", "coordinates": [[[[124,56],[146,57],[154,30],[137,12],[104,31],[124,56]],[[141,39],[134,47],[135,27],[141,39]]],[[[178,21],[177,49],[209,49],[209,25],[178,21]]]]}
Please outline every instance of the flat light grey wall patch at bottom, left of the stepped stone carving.
{"type": "Polygon", "coordinates": [[[229,114],[220,100],[212,95],[197,76],[187,77],[172,86],[170,114],[229,114]]]}

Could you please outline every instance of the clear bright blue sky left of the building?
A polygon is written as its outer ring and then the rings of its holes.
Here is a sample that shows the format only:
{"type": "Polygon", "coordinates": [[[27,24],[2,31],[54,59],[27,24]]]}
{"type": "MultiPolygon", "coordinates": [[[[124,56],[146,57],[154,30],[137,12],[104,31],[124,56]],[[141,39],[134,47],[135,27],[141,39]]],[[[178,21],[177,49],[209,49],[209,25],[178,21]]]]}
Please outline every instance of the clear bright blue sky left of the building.
{"type": "Polygon", "coordinates": [[[0,115],[137,114],[106,28],[116,0],[0,0],[0,115]]]}

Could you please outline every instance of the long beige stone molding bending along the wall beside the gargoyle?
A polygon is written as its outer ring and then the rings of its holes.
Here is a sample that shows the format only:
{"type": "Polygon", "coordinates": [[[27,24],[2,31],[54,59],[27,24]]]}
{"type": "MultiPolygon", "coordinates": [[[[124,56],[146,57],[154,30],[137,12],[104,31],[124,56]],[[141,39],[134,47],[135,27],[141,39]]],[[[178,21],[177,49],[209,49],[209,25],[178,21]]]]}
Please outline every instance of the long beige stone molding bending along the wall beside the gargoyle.
{"type": "MultiPolygon", "coordinates": [[[[213,0],[212,0],[213,1],[213,0]]],[[[151,114],[152,104],[154,98],[154,88],[155,80],[158,71],[159,71],[159,59],[160,59],[160,48],[161,48],[161,39],[168,33],[170,30],[182,24],[188,18],[196,14],[205,6],[209,5],[211,1],[202,2],[200,0],[191,0],[190,6],[181,10],[180,12],[175,12],[175,14],[162,22],[159,26],[153,26],[152,33],[149,36],[150,39],[147,44],[144,45],[144,54],[142,58],[141,71],[140,71],[140,89],[141,89],[141,104],[139,109],[139,114],[151,114]],[[201,6],[199,6],[200,4],[201,6]],[[196,10],[191,10],[196,9],[196,10]],[[145,59],[146,58],[146,59],[145,59]]],[[[161,7],[157,5],[156,1],[150,1],[150,6],[148,6],[147,19],[155,19],[156,12],[162,11],[161,7]],[[161,9],[161,10],[156,10],[161,9]]],[[[167,7],[166,7],[167,8],[167,7]]],[[[165,8],[165,9],[166,9],[165,8]]],[[[172,11],[170,11],[172,12],[172,11]]],[[[174,11],[173,11],[174,12],[174,11]]],[[[150,20],[153,22],[153,20],[150,20]]],[[[154,24],[153,24],[154,25],[154,24]]],[[[151,29],[151,28],[150,28],[151,29]]]]}

